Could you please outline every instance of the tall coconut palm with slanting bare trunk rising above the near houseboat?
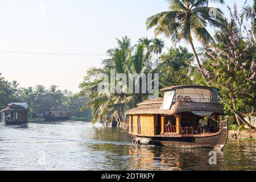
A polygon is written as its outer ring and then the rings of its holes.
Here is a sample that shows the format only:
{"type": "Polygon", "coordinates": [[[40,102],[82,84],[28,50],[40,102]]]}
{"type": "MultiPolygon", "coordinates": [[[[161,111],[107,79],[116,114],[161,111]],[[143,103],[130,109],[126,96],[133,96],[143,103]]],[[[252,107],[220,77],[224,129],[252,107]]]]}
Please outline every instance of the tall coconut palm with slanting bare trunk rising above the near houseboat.
{"type": "MultiPolygon", "coordinates": [[[[146,27],[155,27],[155,35],[163,34],[175,43],[184,40],[188,42],[196,57],[201,75],[207,80],[199,56],[194,45],[193,36],[204,47],[214,44],[214,39],[207,31],[208,24],[221,27],[222,11],[208,7],[209,0],[168,0],[169,11],[164,11],[147,18],[146,27]]],[[[212,0],[224,3],[224,0],[212,0]]]]}

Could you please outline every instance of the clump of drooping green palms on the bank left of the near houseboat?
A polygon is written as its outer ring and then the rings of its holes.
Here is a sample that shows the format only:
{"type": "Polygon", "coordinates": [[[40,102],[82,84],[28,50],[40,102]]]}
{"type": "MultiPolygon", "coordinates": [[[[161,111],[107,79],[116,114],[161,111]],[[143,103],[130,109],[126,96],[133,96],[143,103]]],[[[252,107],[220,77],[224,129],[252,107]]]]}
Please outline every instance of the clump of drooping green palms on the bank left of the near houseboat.
{"type": "MultiPolygon", "coordinates": [[[[108,55],[110,59],[102,61],[102,68],[91,68],[84,77],[81,83],[81,95],[89,98],[89,102],[82,107],[82,110],[87,107],[92,108],[93,122],[101,121],[109,113],[117,111],[119,117],[123,118],[123,113],[136,106],[138,102],[142,102],[148,94],[123,94],[123,93],[108,93],[98,92],[98,85],[103,81],[105,75],[110,78],[111,69],[115,70],[115,74],[124,73],[127,77],[129,74],[142,75],[143,73],[157,73],[158,69],[155,64],[158,58],[158,53],[163,47],[163,42],[159,39],[149,40],[147,38],[139,39],[138,44],[131,46],[130,39],[127,36],[121,40],[117,40],[118,47],[109,49],[108,55]],[[157,41],[156,41],[157,40],[157,41]],[[159,43],[159,44],[155,44],[159,43]],[[157,47],[157,48],[156,48],[157,47]],[[158,50],[158,51],[156,51],[158,50]]],[[[140,79],[135,82],[141,82],[140,79]]],[[[142,90],[140,84],[139,90],[142,90]]],[[[121,90],[126,88],[121,88],[121,90]]]]}

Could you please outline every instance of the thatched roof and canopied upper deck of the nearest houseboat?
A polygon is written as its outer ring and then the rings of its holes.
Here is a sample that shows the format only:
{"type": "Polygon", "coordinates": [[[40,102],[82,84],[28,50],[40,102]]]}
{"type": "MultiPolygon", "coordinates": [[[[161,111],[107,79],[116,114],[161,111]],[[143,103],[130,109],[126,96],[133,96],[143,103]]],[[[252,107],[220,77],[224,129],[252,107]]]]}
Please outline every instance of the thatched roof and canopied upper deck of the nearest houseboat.
{"type": "Polygon", "coordinates": [[[126,114],[180,114],[193,111],[209,111],[224,114],[218,102],[218,90],[208,86],[171,86],[164,91],[164,98],[148,100],[138,104],[126,114]],[[184,98],[188,98],[185,100],[184,98]]]}

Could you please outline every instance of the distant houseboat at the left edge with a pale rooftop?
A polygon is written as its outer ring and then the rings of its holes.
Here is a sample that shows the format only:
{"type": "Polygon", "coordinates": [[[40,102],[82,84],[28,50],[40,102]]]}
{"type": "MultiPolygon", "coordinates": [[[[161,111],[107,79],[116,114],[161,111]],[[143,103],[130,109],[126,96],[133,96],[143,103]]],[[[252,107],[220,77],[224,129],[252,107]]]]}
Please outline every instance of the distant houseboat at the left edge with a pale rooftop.
{"type": "Polygon", "coordinates": [[[9,104],[1,110],[2,123],[5,125],[20,125],[27,123],[28,105],[26,103],[9,104]]]}

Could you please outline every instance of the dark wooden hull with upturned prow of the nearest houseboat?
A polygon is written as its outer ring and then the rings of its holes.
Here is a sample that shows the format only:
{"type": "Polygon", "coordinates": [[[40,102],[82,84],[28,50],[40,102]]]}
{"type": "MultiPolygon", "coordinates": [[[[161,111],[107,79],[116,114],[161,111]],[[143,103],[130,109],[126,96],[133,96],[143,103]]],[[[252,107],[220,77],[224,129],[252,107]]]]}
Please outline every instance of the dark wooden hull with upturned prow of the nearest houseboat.
{"type": "MultiPolygon", "coordinates": [[[[137,136],[138,138],[139,136],[137,136]]],[[[210,148],[222,150],[228,140],[228,119],[221,123],[220,131],[208,135],[180,135],[177,137],[150,137],[155,143],[163,146],[180,148],[210,148]]]]}

